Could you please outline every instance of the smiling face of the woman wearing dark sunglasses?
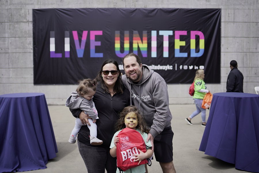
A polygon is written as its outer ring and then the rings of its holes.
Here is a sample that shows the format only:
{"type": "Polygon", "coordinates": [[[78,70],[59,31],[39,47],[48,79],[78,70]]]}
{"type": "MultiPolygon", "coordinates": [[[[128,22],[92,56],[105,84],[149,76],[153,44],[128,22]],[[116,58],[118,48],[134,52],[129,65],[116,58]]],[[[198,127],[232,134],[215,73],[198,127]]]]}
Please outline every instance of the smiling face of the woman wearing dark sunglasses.
{"type": "MultiPolygon", "coordinates": [[[[119,69],[117,69],[116,65],[110,63],[110,64],[105,64],[102,67],[102,71],[105,71],[105,70],[112,71],[112,70],[119,70],[119,69]]],[[[117,74],[115,74],[115,75],[112,75],[111,72],[109,72],[109,74],[105,75],[102,72],[102,79],[108,88],[113,88],[115,85],[115,82],[118,78],[118,75],[119,75],[119,72],[117,72],[117,74]]]]}

